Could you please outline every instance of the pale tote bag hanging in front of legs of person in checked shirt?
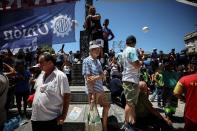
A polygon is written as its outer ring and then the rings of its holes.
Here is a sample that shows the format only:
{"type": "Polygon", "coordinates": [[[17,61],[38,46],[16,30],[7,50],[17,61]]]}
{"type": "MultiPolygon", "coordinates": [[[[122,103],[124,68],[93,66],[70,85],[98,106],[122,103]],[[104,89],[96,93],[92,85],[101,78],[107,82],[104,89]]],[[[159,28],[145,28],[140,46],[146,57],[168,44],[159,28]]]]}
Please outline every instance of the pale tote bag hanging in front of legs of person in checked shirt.
{"type": "Polygon", "coordinates": [[[87,115],[86,131],[102,131],[102,122],[96,104],[90,104],[87,115]]]}

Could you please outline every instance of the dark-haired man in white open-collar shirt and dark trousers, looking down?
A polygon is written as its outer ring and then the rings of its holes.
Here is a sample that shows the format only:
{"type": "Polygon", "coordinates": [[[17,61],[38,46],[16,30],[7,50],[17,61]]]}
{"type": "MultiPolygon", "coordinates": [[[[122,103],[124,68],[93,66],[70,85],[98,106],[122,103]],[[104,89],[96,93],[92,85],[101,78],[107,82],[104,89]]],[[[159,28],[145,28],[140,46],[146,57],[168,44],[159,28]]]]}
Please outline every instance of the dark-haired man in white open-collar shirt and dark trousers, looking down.
{"type": "Polygon", "coordinates": [[[66,75],[55,67],[55,58],[45,52],[39,57],[42,70],[35,83],[32,105],[32,129],[61,131],[70,101],[70,89],[66,75]]]}

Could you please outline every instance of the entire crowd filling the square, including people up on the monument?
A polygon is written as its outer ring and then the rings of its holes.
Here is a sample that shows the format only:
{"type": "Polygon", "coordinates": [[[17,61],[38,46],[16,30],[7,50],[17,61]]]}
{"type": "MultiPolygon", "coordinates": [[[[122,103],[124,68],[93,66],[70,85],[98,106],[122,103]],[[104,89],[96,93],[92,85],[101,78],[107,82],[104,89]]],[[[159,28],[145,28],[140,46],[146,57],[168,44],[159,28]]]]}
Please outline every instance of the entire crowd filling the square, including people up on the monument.
{"type": "Polygon", "coordinates": [[[89,104],[103,107],[103,131],[108,130],[110,109],[103,85],[111,91],[112,102],[124,108],[125,123],[122,129],[125,131],[137,128],[172,130],[171,119],[178,106],[177,96],[186,102],[185,131],[197,130],[197,63],[181,63],[175,49],[164,58],[163,52],[158,54],[155,48],[148,62],[144,50],[136,49],[134,35],[127,37],[126,48],[116,55],[108,47],[108,41],[114,38],[108,28],[109,20],[105,19],[103,27],[100,20],[100,14],[91,6],[84,24],[91,38],[89,56],[83,60],[80,52],[65,53],[64,46],[56,54],[41,48],[34,53],[28,49],[20,49],[16,55],[9,49],[1,53],[0,131],[15,101],[19,115],[27,115],[30,95],[33,95],[33,131],[61,131],[69,108],[69,82],[74,63],[82,63],[89,104]],[[151,103],[156,97],[158,107],[164,110],[165,116],[151,103]]]}

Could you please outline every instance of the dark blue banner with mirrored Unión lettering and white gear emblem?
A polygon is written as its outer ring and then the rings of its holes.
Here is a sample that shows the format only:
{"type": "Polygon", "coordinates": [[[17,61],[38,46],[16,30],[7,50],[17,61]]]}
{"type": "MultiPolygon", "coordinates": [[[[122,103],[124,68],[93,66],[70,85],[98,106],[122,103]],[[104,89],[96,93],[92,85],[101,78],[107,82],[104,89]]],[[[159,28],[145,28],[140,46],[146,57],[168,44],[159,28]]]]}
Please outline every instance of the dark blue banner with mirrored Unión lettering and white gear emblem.
{"type": "Polygon", "coordinates": [[[0,12],[0,48],[75,42],[75,2],[0,12]]]}

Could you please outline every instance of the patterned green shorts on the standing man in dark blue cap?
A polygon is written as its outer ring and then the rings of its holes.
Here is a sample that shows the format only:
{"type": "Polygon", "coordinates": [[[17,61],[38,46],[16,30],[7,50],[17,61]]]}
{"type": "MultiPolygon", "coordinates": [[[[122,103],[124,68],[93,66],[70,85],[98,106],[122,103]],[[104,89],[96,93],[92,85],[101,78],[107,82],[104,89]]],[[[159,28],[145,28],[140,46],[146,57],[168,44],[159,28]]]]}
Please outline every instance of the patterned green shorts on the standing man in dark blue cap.
{"type": "Polygon", "coordinates": [[[124,81],[123,88],[127,104],[137,105],[138,96],[140,92],[138,84],[124,81]]]}

